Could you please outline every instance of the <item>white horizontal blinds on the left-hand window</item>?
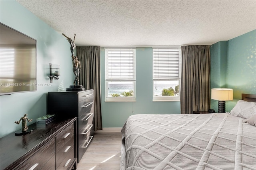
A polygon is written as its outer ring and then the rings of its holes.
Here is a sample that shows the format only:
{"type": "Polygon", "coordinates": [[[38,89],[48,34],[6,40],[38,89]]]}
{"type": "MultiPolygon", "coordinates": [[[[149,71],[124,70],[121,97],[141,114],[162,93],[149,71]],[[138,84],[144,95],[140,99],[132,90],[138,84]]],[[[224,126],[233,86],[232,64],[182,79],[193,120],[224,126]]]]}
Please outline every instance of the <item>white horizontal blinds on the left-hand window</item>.
{"type": "Polygon", "coordinates": [[[106,80],[135,80],[135,49],[105,49],[106,80]]]}

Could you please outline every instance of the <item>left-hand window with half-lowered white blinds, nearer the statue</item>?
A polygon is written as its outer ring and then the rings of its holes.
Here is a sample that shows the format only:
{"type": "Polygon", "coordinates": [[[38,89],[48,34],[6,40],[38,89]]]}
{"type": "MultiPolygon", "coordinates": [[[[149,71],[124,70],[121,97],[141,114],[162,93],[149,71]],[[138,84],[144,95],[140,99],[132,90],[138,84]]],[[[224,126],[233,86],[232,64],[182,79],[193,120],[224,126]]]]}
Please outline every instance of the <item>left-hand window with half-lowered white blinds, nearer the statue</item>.
{"type": "Polygon", "coordinates": [[[136,100],[136,49],[105,49],[106,101],[136,100]]]}

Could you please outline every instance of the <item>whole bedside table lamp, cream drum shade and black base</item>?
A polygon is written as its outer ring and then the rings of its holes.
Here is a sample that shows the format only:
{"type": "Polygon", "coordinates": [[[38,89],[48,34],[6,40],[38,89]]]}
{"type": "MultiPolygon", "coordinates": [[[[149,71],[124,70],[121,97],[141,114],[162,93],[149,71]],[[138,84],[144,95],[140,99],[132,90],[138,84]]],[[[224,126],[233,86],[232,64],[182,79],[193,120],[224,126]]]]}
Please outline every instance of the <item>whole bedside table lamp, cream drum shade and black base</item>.
{"type": "Polygon", "coordinates": [[[225,113],[225,101],[233,100],[233,89],[212,89],[212,99],[218,100],[218,113],[225,113]]]}

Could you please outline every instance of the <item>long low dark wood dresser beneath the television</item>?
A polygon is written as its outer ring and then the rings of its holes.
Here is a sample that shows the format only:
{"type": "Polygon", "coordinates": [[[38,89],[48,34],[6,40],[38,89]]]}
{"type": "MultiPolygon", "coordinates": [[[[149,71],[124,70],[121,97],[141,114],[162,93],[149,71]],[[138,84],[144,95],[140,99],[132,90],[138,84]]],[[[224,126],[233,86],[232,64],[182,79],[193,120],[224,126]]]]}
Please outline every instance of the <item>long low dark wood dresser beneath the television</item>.
{"type": "Polygon", "coordinates": [[[28,127],[34,130],[0,139],[1,170],[76,169],[76,118],[28,127]]]}

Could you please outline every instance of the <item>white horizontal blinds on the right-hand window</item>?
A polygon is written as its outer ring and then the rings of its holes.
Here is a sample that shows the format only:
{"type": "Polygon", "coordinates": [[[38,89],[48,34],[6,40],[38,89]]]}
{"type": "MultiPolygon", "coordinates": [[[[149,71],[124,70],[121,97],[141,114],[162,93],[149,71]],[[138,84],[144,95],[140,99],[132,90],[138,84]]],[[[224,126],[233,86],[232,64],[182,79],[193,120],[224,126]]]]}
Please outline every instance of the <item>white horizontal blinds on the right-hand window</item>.
{"type": "Polygon", "coordinates": [[[153,49],[153,79],[180,79],[180,49],[153,49]]]}

